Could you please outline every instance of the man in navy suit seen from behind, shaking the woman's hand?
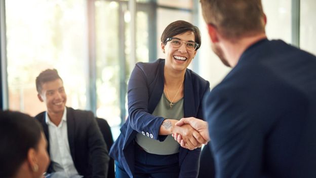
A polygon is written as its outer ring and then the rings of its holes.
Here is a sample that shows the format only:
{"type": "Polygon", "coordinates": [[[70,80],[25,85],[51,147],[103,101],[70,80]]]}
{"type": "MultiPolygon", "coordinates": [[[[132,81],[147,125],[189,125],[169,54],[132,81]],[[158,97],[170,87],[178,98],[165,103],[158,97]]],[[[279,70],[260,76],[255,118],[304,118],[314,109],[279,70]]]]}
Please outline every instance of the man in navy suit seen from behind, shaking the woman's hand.
{"type": "Polygon", "coordinates": [[[260,0],[201,4],[212,49],[232,67],[204,102],[216,177],[316,177],[316,57],[267,40],[260,0]]]}

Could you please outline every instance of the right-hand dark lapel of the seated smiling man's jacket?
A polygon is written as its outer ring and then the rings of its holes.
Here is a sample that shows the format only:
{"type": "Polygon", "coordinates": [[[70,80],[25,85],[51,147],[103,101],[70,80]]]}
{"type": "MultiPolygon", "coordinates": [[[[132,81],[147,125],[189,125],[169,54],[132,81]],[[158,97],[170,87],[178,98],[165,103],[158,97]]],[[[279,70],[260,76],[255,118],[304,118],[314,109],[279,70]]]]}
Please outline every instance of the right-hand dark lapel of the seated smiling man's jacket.
{"type": "Polygon", "coordinates": [[[74,116],[72,111],[67,107],[67,133],[68,133],[68,142],[69,142],[69,149],[70,154],[72,157],[73,162],[75,162],[75,150],[74,150],[74,116]]]}

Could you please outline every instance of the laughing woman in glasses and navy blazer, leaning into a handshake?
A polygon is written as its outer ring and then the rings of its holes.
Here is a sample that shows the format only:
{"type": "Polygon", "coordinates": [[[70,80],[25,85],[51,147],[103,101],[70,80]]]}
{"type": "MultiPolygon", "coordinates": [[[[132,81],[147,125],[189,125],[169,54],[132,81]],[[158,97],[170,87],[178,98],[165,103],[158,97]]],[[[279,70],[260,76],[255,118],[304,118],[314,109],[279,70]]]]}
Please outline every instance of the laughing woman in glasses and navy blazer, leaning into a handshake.
{"type": "Polygon", "coordinates": [[[210,84],[187,69],[200,47],[200,31],[188,22],[176,21],[166,27],[161,41],[166,59],[139,62],[131,74],[128,85],[129,117],[110,150],[110,156],[115,159],[116,177],[198,176],[199,147],[206,139],[189,125],[175,126],[181,118],[155,116],[153,112],[159,105],[165,104],[168,110],[163,112],[172,115],[177,108],[182,117],[203,119],[201,103],[210,84]],[[163,102],[164,99],[166,102],[163,102]],[[177,103],[181,104],[176,106],[177,103]],[[172,133],[182,135],[185,141],[182,146],[188,149],[177,145],[174,154],[152,154],[146,151],[150,144],[142,145],[136,139],[138,134],[160,141],[160,150],[165,152],[169,145],[163,145],[164,141],[172,133]]]}

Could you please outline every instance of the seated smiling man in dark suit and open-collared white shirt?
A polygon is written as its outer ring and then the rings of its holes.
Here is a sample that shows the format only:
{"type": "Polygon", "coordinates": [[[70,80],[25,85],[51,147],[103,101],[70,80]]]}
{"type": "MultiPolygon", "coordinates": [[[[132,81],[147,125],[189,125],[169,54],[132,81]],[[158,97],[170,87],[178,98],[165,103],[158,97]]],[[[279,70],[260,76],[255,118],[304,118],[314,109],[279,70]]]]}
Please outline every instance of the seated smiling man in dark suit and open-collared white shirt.
{"type": "Polygon", "coordinates": [[[38,99],[47,111],[35,116],[48,140],[51,164],[48,172],[66,177],[107,177],[108,151],[92,112],[65,106],[67,96],[56,69],[36,78],[38,99]]]}

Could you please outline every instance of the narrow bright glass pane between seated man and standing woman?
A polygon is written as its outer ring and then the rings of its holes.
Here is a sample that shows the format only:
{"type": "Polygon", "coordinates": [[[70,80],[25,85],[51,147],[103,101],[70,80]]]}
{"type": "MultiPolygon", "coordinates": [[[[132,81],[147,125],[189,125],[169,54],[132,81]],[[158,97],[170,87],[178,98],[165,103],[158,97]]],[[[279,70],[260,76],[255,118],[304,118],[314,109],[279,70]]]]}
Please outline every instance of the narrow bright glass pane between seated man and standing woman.
{"type": "Polygon", "coordinates": [[[119,3],[95,2],[96,114],[110,126],[121,124],[119,53],[124,51],[119,49],[119,15],[119,3]]]}

